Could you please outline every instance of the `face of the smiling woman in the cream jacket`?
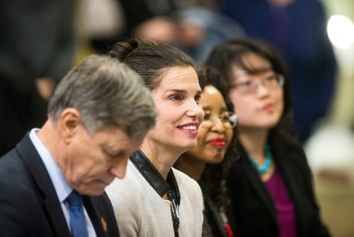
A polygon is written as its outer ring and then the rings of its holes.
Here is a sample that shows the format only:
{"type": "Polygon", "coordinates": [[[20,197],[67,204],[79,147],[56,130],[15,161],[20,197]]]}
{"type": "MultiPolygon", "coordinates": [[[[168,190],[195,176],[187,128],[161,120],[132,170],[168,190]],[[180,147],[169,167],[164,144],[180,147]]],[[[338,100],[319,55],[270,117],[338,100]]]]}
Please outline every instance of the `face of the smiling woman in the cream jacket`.
{"type": "Polygon", "coordinates": [[[148,136],[162,146],[154,145],[156,150],[169,147],[183,153],[197,145],[196,136],[202,120],[198,77],[193,67],[170,67],[163,77],[159,87],[152,91],[159,119],[148,136]]]}

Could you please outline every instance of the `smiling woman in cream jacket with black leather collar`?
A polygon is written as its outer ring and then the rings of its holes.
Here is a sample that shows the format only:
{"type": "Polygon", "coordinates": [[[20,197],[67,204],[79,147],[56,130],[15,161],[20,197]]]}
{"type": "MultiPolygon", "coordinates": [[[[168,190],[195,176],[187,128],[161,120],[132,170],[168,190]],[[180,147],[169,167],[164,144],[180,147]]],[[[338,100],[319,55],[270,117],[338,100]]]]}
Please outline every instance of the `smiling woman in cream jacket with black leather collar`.
{"type": "Polygon", "coordinates": [[[195,63],[177,48],[139,39],[118,42],[109,54],[142,76],[159,112],[130,157],[125,178],[105,190],[120,236],[201,236],[201,189],[172,167],[197,145],[203,112],[195,63]]]}

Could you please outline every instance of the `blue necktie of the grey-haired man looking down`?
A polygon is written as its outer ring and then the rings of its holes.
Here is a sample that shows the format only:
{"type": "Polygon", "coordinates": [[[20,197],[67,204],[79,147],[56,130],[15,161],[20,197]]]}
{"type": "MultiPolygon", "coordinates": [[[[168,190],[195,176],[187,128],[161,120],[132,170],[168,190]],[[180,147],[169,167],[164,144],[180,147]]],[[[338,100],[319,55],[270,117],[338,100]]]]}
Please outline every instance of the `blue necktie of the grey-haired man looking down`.
{"type": "Polygon", "coordinates": [[[75,190],[67,197],[70,212],[70,227],[73,237],[89,237],[87,233],[84,208],[81,195],[75,190]]]}

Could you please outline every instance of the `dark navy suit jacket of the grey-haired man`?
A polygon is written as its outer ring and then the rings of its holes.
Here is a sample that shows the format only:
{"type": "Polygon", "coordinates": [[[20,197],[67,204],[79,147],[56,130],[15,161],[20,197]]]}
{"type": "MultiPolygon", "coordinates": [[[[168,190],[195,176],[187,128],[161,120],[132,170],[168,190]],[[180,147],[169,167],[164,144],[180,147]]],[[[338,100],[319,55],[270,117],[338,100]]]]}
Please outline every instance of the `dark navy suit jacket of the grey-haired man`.
{"type": "MultiPolygon", "coordinates": [[[[119,236],[108,197],[83,200],[97,236],[119,236]]],[[[55,188],[28,134],[0,158],[0,236],[70,236],[55,188]]]]}

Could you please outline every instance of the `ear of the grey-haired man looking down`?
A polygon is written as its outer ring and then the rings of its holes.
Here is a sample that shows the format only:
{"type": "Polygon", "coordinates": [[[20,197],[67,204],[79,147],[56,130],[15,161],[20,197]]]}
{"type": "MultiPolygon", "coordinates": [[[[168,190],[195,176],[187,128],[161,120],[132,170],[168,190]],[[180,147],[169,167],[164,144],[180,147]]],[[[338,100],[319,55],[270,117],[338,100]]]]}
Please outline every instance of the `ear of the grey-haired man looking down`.
{"type": "Polygon", "coordinates": [[[77,109],[67,108],[62,111],[57,123],[59,133],[65,143],[69,144],[81,125],[80,113],[77,109]]]}

